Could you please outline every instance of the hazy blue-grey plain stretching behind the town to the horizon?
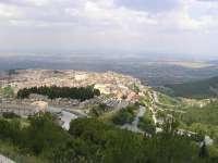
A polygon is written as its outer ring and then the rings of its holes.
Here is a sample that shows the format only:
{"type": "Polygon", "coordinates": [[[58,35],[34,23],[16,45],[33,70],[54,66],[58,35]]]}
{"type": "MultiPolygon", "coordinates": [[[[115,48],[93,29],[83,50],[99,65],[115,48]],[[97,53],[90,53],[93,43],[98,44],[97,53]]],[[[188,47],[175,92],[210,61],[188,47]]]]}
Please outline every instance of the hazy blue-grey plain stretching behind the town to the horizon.
{"type": "MultiPolygon", "coordinates": [[[[150,86],[194,82],[218,76],[218,62],[174,59],[154,60],[149,57],[99,55],[0,55],[0,71],[12,68],[80,70],[90,72],[113,71],[140,78],[150,86]]],[[[2,74],[2,73],[0,73],[2,74]]]]}

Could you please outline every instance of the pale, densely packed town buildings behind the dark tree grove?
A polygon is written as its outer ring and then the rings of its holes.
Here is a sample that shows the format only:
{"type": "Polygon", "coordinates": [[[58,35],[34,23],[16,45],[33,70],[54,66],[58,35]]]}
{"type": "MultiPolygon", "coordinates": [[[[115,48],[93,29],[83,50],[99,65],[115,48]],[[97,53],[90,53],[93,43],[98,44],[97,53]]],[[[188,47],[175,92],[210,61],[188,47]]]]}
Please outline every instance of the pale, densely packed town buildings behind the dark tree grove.
{"type": "Polygon", "coordinates": [[[132,76],[113,72],[93,73],[72,70],[17,70],[10,77],[10,80],[5,79],[1,80],[1,83],[3,87],[10,85],[15,93],[20,89],[35,86],[85,87],[94,85],[104,95],[112,95],[117,99],[126,99],[128,101],[138,99],[138,92],[134,91],[134,86],[137,86],[142,90],[140,93],[143,93],[147,89],[137,78],[132,76]]]}

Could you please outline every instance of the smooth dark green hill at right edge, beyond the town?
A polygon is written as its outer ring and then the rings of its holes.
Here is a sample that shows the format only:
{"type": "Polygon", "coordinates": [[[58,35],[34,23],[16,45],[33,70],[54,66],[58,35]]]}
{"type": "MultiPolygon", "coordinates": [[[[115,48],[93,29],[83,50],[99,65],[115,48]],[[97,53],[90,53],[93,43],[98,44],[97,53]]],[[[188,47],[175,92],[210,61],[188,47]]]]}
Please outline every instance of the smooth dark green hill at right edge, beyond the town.
{"type": "Polygon", "coordinates": [[[171,91],[168,91],[168,93],[175,97],[214,98],[218,97],[218,76],[198,82],[166,85],[165,87],[170,88],[171,91]]]}

